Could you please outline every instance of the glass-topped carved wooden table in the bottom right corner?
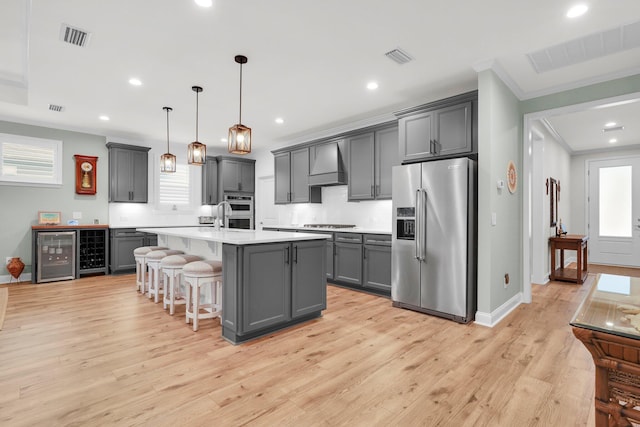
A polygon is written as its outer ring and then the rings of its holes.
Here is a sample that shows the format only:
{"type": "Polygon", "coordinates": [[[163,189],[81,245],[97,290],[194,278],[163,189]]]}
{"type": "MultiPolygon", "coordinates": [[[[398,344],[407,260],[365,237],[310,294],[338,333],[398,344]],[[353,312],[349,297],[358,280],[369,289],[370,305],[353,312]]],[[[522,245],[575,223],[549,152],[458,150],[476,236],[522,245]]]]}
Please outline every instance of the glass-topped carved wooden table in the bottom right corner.
{"type": "Polygon", "coordinates": [[[571,321],[595,363],[596,427],[640,420],[640,325],[622,305],[640,312],[640,278],[600,274],[571,321]]]}

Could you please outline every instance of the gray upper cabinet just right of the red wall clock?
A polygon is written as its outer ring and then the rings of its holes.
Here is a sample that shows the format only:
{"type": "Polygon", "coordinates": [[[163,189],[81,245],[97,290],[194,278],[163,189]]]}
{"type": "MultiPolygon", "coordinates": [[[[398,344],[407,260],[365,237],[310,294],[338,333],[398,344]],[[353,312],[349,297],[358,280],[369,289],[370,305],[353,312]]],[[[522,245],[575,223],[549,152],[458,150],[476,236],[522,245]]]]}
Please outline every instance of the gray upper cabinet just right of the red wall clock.
{"type": "Polygon", "coordinates": [[[109,202],[147,203],[150,148],[107,143],[109,202]]]}

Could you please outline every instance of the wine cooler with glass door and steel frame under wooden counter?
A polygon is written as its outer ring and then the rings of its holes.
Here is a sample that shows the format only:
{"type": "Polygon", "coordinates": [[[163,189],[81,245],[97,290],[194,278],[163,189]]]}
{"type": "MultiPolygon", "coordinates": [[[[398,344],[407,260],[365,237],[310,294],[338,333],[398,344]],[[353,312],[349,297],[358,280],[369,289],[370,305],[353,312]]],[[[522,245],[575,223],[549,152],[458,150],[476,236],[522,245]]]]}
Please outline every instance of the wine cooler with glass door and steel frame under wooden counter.
{"type": "Polygon", "coordinates": [[[38,232],[38,283],[76,278],[76,232],[38,232]]]}

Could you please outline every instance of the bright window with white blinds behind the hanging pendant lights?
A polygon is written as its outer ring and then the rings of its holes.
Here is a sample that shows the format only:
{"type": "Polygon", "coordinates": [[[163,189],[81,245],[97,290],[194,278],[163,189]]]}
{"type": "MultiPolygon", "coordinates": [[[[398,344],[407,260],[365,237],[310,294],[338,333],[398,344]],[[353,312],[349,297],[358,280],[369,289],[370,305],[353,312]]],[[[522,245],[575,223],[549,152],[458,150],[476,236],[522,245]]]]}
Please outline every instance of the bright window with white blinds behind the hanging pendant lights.
{"type": "Polygon", "coordinates": [[[161,173],[158,170],[158,198],[157,208],[160,210],[183,210],[191,209],[193,200],[193,189],[191,182],[193,172],[185,163],[178,161],[176,171],[173,173],[161,173]]]}

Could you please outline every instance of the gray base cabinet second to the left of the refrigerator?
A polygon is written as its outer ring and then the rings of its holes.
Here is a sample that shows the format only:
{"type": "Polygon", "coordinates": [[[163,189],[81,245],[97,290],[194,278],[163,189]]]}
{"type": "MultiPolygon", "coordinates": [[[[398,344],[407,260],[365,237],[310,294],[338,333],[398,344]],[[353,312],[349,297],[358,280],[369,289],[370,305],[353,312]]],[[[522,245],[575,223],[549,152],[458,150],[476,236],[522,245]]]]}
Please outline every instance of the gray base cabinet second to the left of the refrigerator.
{"type": "Polygon", "coordinates": [[[362,235],[335,234],[334,279],[362,286],[362,235]]]}

